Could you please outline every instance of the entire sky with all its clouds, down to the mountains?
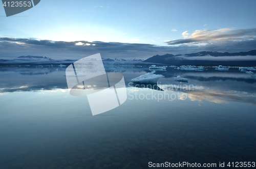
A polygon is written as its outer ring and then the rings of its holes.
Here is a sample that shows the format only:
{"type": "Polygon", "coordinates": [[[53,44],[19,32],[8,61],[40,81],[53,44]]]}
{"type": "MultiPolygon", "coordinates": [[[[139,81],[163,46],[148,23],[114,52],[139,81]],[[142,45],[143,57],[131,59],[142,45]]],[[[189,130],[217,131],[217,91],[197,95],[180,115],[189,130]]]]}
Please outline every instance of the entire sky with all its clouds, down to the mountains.
{"type": "Polygon", "coordinates": [[[254,0],[42,0],[9,17],[0,7],[0,55],[79,58],[100,52],[103,58],[146,59],[249,51],[256,49],[255,6],[254,0]]]}

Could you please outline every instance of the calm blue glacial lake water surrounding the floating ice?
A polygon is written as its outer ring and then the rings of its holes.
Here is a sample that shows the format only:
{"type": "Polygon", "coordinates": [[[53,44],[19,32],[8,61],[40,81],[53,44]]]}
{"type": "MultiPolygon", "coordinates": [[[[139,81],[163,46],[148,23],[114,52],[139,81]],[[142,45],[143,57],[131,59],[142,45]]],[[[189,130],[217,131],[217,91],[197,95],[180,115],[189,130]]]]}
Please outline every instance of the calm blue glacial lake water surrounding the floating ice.
{"type": "Polygon", "coordinates": [[[87,96],[69,94],[65,70],[0,67],[0,168],[256,162],[256,78],[238,68],[167,67],[150,89],[131,83],[148,67],[108,67],[123,75],[127,99],[96,116],[87,96]]]}

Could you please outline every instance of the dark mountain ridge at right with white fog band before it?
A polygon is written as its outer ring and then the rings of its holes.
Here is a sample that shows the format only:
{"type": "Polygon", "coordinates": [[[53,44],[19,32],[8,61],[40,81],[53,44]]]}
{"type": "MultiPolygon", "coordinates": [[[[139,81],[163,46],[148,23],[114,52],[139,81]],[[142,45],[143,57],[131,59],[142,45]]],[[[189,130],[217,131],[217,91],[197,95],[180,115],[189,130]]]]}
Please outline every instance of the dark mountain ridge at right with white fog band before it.
{"type": "Polygon", "coordinates": [[[248,52],[217,52],[217,51],[201,51],[197,53],[188,54],[164,54],[155,55],[147,60],[143,61],[147,63],[159,63],[166,65],[229,65],[229,66],[256,66],[256,50],[250,50],[248,52]],[[243,59],[245,56],[255,56],[243,59]],[[193,58],[194,57],[194,58],[193,58]],[[202,57],[202,59],[200,59],[202,57]],[[208,58],[209,57],[209,58],[208,58]],[[223,58],[230,57],[230,60],[223,60],[223,58]],[[234,60],[233,57],[239,58],[234,60]],[[212,60],[211,60],[212,59],[212,60]],[[218,60],[219,59],[219,60],[218,60]]]}

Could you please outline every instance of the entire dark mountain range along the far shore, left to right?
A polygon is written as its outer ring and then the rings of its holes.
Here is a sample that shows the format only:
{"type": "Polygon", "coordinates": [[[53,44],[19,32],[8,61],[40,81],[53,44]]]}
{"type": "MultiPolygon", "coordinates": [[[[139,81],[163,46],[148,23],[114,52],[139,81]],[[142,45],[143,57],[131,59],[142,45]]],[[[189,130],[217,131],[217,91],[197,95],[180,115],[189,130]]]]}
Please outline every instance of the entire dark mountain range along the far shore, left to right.
{"type": "MultiPolygon", "coordinates": [[[[77,60],[53,60],[48,57],[38,56],[20,56],[15,59],[8,57],[0,57],[0,65],[40,65],[40,64],[71,64],[77,60]]],[[[217,52],[217,51],[201,51],[188,54],[164,54],[155,55],[146,60],[142,59],[122,59],[122,58],[102,58],[106,64],[118,63],[140,63],[140,64],[161,64],[161,65],[195,65],[195,66],[256,66],[256,50],[248,52],[217,52]]]]}

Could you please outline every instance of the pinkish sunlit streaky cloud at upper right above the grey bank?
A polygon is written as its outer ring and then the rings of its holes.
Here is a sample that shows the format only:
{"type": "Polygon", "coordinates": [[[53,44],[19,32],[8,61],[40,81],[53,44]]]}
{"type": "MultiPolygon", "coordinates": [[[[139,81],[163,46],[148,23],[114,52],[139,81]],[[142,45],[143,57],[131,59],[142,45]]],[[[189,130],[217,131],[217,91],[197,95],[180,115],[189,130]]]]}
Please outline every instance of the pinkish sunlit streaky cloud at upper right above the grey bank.
{"type": "Polygon", "coordinates": [[[182,33],[185,39],[166,42],[168,45],[177,44],[200,44],[215,43],[223,41],[244,41],[256,39],[256,29],[234,30],[232,27],[217,30],[196,30],[190,36],[187,31],[182,33]]]}

